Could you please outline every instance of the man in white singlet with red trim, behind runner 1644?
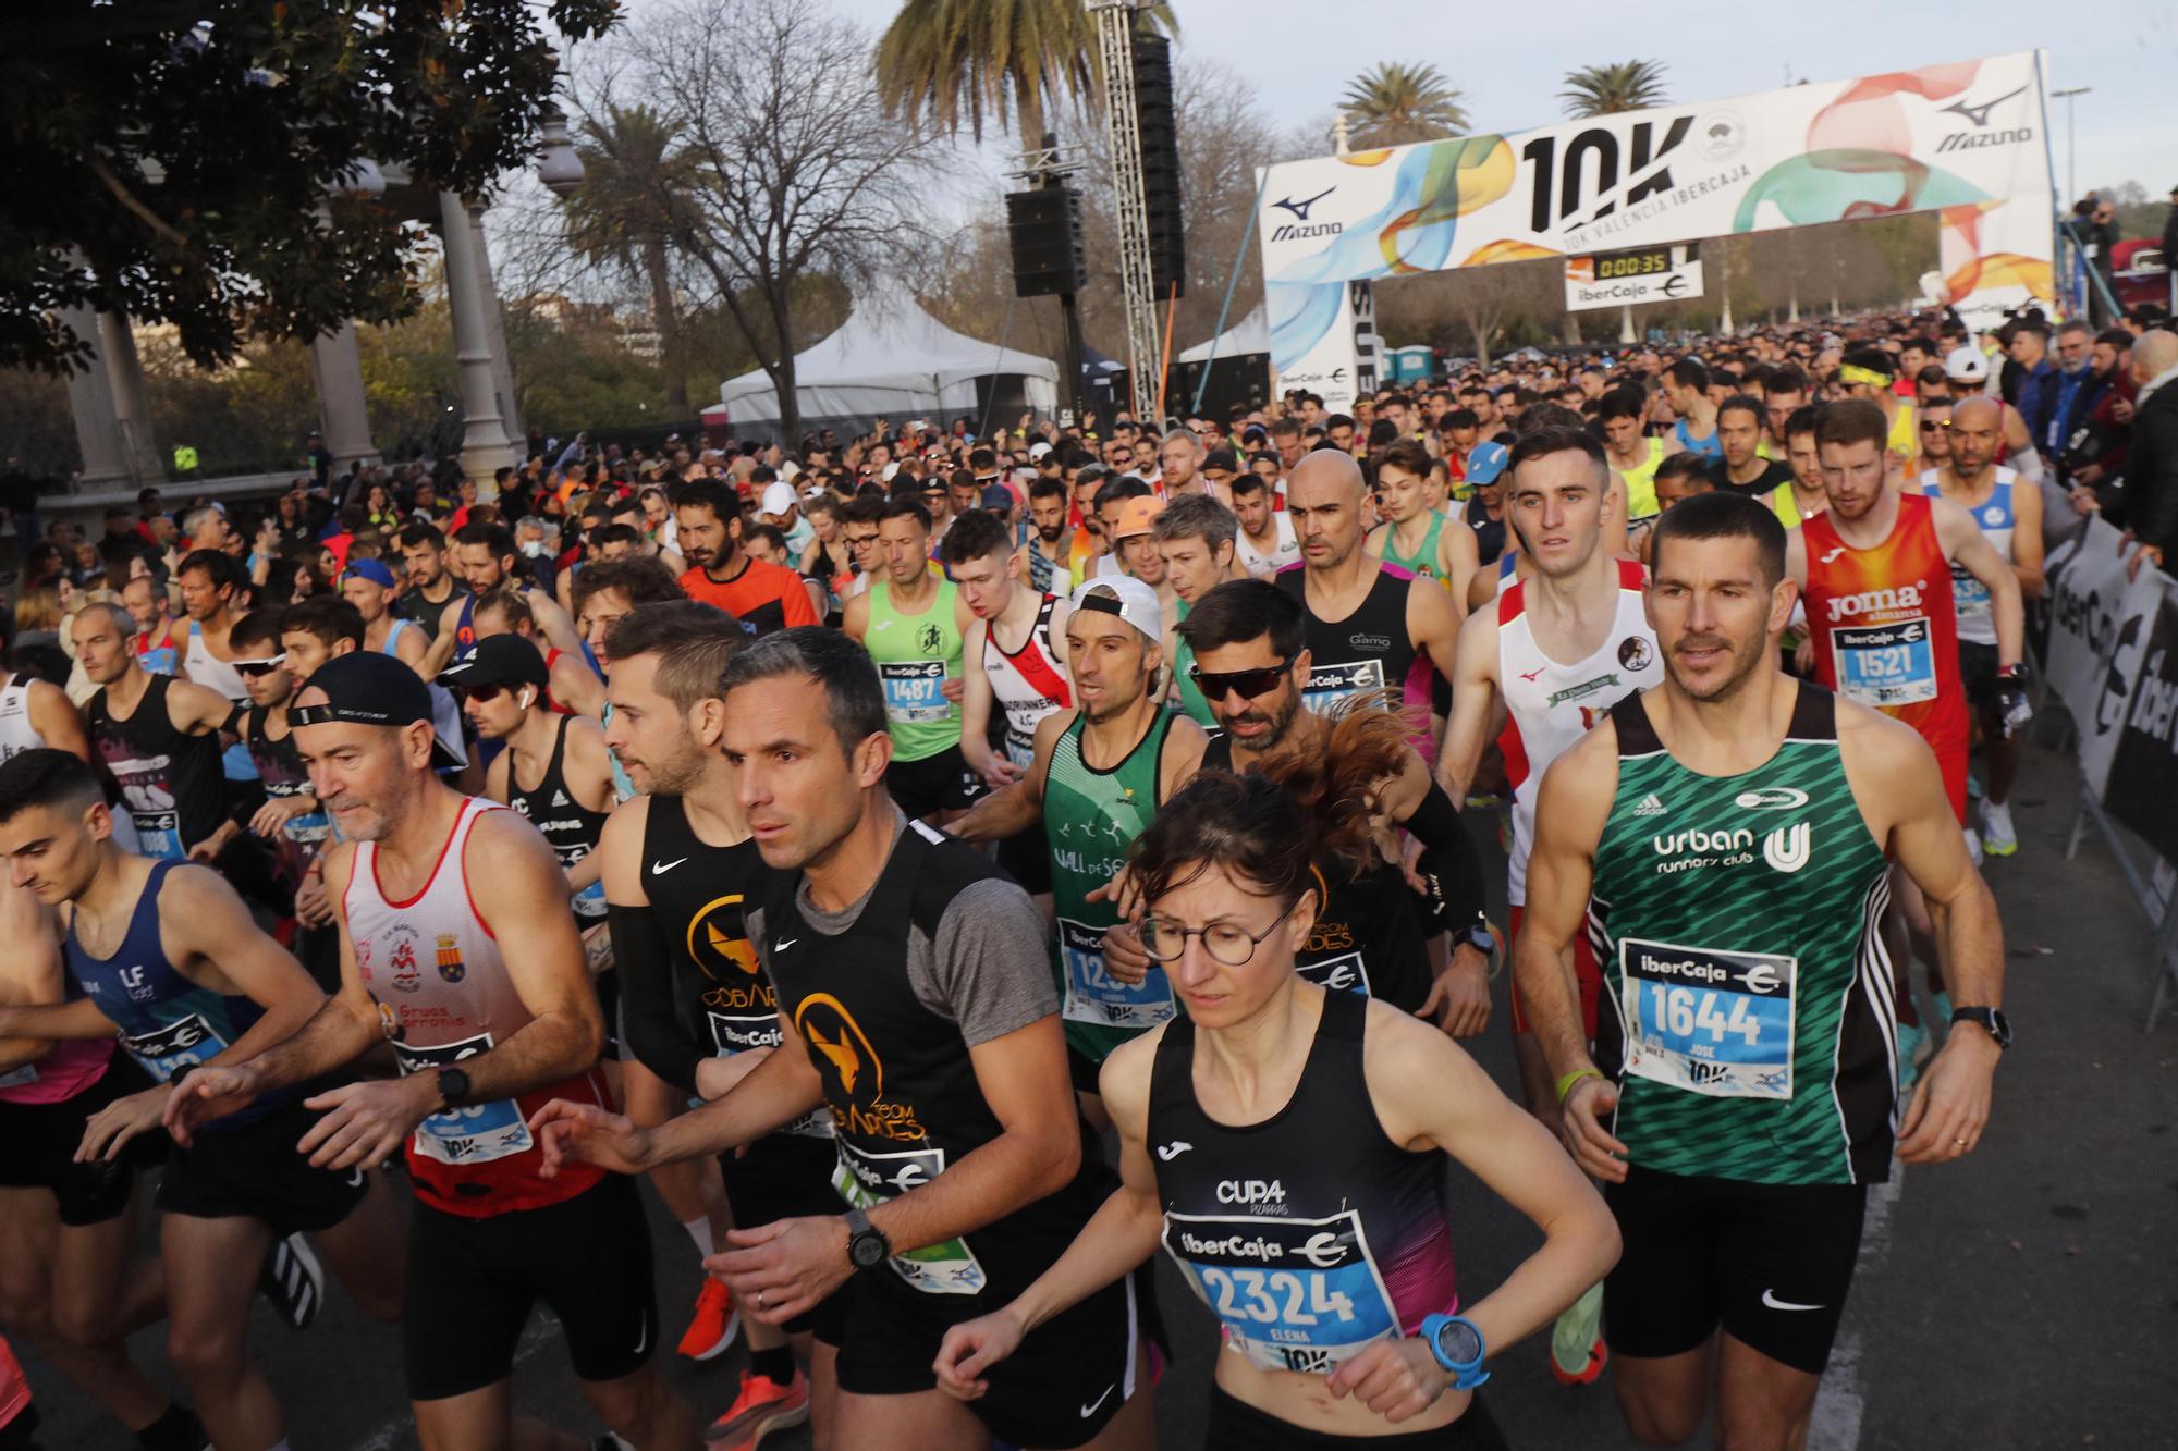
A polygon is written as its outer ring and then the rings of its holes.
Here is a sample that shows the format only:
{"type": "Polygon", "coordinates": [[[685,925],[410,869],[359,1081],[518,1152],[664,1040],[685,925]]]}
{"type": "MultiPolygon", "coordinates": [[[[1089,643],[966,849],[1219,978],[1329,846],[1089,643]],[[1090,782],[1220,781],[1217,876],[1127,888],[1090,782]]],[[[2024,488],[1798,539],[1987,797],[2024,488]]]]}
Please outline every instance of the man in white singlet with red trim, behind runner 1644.
{"type": "MultiPolygon", "coordinates": [[[[1527,904],[1527,854],[1535,841],[1535,795],[1551,763],[1610,715],[1614,702],[1662,678],[1655,630],[1642,601],[1647,571],[1605,545],[1616,505],[1603,444],[1581,429],[1540,427],[1514,444],[1505,468],[1505,523],[1533,573],[1483,603],[1459,627],[1453,715],[1444,728],[1440,778],[1455,802],[1481,767],[1490,728],[1503,717],[1498,749],[1512,780],[1512,937],[1527,904]]],[[[1596,1033],[1603,974],[1586,939],[1575,941],[1581,1017],[1596,1033]]],[[[1514,1057],[1535,1118],[1557,1124],[1559,1094],[1512,993],[1514,1057]]],[[[1596,1322],[1601,1296],[1581,1296],[1551,1333],[1551,1373],[1590,1383],[1607,1351],[1596,1322]]]]}

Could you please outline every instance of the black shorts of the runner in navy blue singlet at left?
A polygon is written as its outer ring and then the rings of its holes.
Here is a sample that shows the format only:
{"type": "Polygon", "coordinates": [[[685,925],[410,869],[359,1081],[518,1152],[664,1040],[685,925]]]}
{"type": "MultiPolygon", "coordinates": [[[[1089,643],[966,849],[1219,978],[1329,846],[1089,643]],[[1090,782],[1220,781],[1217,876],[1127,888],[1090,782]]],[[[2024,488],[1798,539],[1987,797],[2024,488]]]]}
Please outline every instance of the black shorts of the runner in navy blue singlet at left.
{"type": "Polygon", "coordinates": [[[318,1113],[298,1100],[237,1129],[198,1131],[168,1150],[152,1203],[196,1220],[264,1220],[283,1237],[331,1229],[364,1203],[370,1179],[362,1168],[311,1168],[294,1146],[316,1126],[318,1113]]]}

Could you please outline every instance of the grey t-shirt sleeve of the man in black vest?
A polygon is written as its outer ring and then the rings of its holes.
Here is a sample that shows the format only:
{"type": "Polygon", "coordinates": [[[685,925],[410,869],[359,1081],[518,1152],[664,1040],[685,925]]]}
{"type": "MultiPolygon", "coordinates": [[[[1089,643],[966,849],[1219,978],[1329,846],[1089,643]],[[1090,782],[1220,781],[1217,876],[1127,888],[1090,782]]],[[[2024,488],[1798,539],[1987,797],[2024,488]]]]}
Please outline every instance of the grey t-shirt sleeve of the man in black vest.
{"type": "Polygon", "coordinates": [[[974,1048],[1059,1011],[1043,913],[1002,878],[969,882],[945,904],[930,952],[908,952],[917,1000],[974,1048]]]}

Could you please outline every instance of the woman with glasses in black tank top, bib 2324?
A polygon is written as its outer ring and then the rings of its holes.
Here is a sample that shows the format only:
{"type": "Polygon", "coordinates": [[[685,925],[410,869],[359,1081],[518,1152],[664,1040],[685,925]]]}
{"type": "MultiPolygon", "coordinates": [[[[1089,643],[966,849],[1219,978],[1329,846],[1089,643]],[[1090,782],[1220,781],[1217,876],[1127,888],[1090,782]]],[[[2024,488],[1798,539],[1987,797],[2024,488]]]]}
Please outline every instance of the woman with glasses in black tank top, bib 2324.
{"type": "Polygon", "coordinates": [[[1106,1059],[1124,1187],[1021,1296],[947,1333],[954,1394],[980,1394],[1024,1333],[1163,1248],[1220,1320],[1213,1451],[1505,1444],[1475,1399],[1481,1366],[1601,1279],[1616,1229],[1437,1028],[1296,976],[1311,850],[1283,789],[1224,771],[1143,832],[1143,943],[1187,1013],[1106,1059]],[[1475,1305],[1453,1290],[1444,1157],[1549,1233],[1475,1305]],[[1440,1359],[1440,1333],[1481,1351],[1440,1359]]]}

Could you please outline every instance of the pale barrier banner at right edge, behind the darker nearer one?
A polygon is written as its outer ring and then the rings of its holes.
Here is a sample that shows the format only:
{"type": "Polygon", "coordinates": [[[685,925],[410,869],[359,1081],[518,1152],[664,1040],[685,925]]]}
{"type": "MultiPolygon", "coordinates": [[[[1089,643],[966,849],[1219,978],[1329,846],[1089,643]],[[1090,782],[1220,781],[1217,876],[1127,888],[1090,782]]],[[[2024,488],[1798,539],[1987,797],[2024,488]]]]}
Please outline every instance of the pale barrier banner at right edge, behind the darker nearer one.
{"type": "Polygon", "coordinates": [[[2078,540],[2049,553],[2043,597],[2049,601],[2049,688],[2080,732],[2080,773],[2097,797],[2110,780],[2110,756],[2126,723],[2132,680],[2156,625],[2163,575],[2143,569],[2126,580],[2124,536],[2100,516],[2078,540]]]}

